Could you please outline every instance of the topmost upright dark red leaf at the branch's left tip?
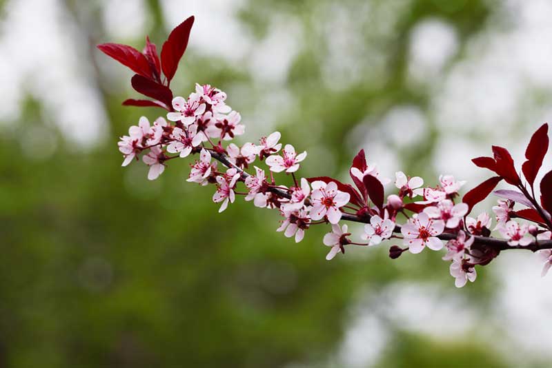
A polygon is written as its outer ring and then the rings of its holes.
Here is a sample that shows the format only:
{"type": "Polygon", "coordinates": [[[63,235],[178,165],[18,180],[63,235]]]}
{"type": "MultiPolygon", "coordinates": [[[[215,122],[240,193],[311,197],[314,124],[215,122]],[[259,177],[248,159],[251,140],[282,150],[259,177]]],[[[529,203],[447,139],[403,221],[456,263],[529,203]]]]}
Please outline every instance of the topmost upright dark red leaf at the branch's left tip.
{"type": "Polygon", "coordinates": [[[167,77],[167,81],[170,84],[170,80],[175,76],[175,72],[178,68],[178,62],[180,61],[186,47],[188,47],[188,39],[190,38],[190,30],[194,23],[194,17],[189,17],[170,32],[167,41],[161,48],[161,68],[163,73],[167,77]]]}

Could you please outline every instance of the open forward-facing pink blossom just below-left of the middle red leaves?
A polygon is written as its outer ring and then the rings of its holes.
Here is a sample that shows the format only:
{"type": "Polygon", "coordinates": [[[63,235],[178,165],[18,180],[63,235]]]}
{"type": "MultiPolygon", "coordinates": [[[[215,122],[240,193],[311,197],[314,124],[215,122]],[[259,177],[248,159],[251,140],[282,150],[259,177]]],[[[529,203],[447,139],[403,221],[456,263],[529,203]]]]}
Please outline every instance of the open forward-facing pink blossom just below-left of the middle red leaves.
{"type": "Polygon", "coordinates": [[[342,216],[339,207],[346,205],[351,195],[337,190],[337,184],[333,181],[327,184],[323,181],[314,181],[311,187],[311,218],[316,221],[327,216],[330,223],[338,223],[342,216]]]}

